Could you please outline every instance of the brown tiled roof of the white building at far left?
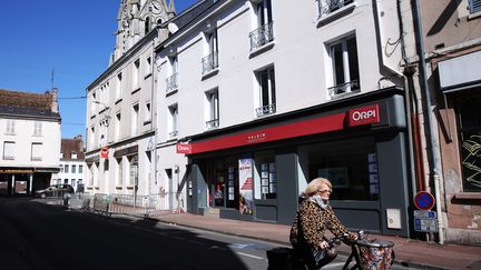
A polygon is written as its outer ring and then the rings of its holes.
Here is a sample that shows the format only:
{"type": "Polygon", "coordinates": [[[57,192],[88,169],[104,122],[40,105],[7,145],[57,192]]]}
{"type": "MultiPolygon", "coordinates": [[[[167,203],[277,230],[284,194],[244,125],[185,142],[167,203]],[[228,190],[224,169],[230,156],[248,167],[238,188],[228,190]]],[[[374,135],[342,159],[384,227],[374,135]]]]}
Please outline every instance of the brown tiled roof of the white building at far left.
{"type": "Polygon", "coordinates": [[[60,118],[52,111],[55,94],[0,89],[0,114],[60,118]]]}

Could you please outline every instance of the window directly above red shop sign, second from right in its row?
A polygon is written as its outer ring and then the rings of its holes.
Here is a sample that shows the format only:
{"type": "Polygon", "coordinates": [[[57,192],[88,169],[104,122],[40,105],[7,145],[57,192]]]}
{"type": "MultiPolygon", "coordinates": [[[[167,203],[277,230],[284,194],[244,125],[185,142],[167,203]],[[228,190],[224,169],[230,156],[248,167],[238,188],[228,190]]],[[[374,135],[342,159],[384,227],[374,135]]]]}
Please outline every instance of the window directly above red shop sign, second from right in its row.
{"type": "Polygon", "coordinates": [[[257,117],[274,113],[275,103],[275,76],[274,67],[257,72],[259,86],[259,107],[256,109],[257,117]]]}

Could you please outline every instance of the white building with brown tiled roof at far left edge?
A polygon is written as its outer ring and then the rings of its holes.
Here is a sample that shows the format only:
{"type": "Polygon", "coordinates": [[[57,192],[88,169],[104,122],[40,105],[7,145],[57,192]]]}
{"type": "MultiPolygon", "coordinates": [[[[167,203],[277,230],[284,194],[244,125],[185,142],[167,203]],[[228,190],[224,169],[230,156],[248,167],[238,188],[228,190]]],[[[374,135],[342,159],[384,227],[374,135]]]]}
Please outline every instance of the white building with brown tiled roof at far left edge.
{"type": "Polygon", "coordinates": [[[57,89],[0,90],[0,196],[33,194],[59,171],[57,89]]]}

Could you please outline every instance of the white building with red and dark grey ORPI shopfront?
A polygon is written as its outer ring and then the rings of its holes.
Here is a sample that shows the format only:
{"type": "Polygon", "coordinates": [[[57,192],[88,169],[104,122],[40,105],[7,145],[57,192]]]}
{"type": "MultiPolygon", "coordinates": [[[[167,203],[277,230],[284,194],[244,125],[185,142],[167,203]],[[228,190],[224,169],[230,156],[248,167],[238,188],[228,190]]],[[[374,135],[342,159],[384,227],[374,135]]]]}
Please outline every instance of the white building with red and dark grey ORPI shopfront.
{"type": "Polygon", "coordinates": [[[408,236],[399,8],[216,1],[156,48],[153,189],[189,212],[288,224],[327,177],[350,228],[408,236]]]}

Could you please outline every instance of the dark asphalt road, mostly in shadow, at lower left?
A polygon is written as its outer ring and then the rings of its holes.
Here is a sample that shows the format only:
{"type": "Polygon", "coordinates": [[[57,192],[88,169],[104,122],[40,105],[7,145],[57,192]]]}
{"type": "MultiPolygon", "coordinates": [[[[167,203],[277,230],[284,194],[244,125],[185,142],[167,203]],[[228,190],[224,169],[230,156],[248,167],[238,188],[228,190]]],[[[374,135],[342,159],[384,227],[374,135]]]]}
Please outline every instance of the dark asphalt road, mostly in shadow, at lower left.
{"type": "MultiPolygon", "coordinates": [[[[65,211],[48,202],[0,199],[0,269],[264,270],[266,250],[278,247],[153,220],[65,211]]],[[[340,269],[342,260],[325,269],[340,269]]]]}

